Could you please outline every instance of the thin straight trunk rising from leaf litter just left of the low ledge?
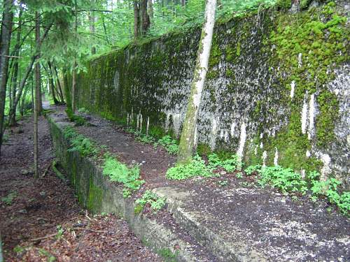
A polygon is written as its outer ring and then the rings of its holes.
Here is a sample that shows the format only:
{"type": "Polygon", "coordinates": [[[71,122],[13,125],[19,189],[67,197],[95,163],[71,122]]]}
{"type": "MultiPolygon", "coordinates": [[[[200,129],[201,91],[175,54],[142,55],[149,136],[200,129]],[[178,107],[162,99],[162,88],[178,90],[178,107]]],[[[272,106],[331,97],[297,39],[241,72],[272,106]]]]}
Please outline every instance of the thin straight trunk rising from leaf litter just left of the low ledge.
{"type": "MultiPolygon", "coordinates": [[[[40,52],[40,21],[38,12],[36,12],[36,21],[35,21],[35,41],[36,41],[36,52],[40,52]]],[[[40,53],[37,54],[38,57],[40,53]]],[[[40,113],[40,100],[39,96],[41,95],[41,75],[40,75],[40,63],[35,64],[35,92],[34,92],[34,178],[39,177],[39,168],[38,168],[38,115],[40,113]]]]}

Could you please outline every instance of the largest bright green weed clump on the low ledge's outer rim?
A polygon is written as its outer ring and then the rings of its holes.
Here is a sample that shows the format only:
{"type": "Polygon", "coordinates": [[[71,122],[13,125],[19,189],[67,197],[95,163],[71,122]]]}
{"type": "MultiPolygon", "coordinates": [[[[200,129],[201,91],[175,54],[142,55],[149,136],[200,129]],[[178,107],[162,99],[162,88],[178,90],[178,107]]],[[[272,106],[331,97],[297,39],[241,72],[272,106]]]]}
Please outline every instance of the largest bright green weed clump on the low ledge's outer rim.
{"type": "Polygon", "coordinates": [[[128,168],[124,163],[120,163],[112,157],[106,157],[102,172],[104,175],[108,176],[111,181],[124,185],[124,198],[130,197],[132,191],[138,190],[145,182],[144,180],[140,180],[139,166],[128,168]]]}

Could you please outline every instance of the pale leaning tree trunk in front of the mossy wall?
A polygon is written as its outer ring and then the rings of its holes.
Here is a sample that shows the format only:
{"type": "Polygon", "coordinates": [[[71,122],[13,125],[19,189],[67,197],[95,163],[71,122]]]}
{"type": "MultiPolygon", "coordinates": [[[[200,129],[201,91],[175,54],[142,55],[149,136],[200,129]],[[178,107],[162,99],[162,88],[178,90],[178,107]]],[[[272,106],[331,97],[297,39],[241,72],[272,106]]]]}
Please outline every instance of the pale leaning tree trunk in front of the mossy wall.
{"type": "Polygon", "coordinates": [[[208,61],[215,24],[215,11],[216,0],[207,0],[195,73],[193,75],[190,98],[188,101],[185,121],[183,123],[183,130],[181,132],[178,163],[190,162],[193,150],[195,149],[195,132],[197,131],[198,111],[200,109],[204,81],[208,71],[208,61]]]}

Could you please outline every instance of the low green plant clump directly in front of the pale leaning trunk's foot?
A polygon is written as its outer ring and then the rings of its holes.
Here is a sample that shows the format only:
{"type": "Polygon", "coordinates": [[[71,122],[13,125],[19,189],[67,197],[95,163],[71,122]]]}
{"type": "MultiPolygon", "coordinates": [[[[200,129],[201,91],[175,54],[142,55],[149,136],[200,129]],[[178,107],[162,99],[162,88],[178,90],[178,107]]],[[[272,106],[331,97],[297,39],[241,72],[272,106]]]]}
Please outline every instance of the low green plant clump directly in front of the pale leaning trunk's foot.
{"type": "Polygon", "coordinates": [[[172,180],[184,180],[195,176],[211,177],[214,176],[211,170],[211,167],[207,166],[205,161],[196,155],[188,164],[177,164],[169,168],[166,176],[172,180]]]}

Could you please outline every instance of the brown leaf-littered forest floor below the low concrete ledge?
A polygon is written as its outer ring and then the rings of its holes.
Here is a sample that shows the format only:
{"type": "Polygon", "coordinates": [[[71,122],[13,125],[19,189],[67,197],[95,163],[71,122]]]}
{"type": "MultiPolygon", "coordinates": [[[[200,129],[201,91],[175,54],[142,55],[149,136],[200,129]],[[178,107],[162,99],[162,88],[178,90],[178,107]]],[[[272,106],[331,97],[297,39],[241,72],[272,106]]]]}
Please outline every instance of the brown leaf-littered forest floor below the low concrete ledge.
{"type": "Polygon", "coordinates": [[[0,232],[6,261],[161,261],[112,214],[89,214],[56,177],[47,120],[40,117],[33,173],[33,120],[6,131],[0,159],[0,232]]]}

